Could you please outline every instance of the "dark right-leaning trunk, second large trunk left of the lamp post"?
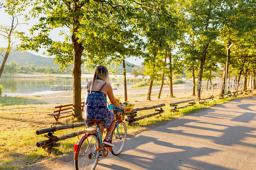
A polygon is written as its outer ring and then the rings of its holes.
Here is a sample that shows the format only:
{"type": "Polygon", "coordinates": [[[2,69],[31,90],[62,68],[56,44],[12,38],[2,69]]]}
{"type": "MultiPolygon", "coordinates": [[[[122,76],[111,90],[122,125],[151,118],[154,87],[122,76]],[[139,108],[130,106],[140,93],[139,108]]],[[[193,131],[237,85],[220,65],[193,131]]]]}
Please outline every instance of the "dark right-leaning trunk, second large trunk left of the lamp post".
{"type": "MultiPolygon", "coordinates": [[[[208,44],[203,49],[207,49],[208,44]]],[[[197,91],[196,91],[196,100],[199,101],[201,98],[201,86],[202,86],[202,77],[203,77],[203,71],[204,71],[204,62],[206,57],[206,51],[202,55],[202,58],[200,60],[200,67],[199,67],[199,74],[198,74],[198,80],[197,80],[197,91]]]]}

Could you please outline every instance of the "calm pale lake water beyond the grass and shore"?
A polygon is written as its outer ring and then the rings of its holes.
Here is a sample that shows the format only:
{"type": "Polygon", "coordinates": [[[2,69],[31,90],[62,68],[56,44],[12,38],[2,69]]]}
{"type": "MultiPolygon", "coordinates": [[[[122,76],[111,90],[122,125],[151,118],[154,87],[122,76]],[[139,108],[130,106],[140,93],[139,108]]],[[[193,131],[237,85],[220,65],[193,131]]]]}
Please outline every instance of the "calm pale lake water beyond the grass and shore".
{"type": "MultiPolygon", "coordinates": [[[[73,85],[72,78],[5,78],[0,79],[0,85],[3,85],[3,94],[8,96],[19,95],[40,95],[51,94],[65,91],[50,91],[50,85],[73,85]]],[[[124,83],[121,81],[112,81],[117,88],[123,88],[124,83]]],[[[82,85],[86,85],[86,79],[82,79],[82,85]]],[[[127,87],[132,84],[127,84],[127,87]]]]}

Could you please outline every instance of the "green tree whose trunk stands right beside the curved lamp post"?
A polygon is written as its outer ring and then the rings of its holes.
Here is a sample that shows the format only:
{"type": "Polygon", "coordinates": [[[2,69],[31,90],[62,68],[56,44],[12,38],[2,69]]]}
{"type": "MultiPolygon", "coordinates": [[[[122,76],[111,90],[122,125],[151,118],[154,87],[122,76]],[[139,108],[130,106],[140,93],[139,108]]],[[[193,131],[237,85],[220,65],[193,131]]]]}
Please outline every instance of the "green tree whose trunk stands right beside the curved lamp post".
{"type": "MultiPolygon", "coordinates": [[[[231,43],[239,43],[238,39],[243,39],[245,35],[249,36],[255,32],[255,2],[253,1],[224,1],[220,4],[220,8],[217,12],[219,23],[220,23],[220,39],[226,43],[228,55],[228,64],[233,61],[230,60],[233,54],[230,53],[231,49],[228,49],[231,43]],[[238,40],[238,41],[237,41],[238,40]]],[[[226,59],[226,56],[225,56],[226,59]]],[[[222,84],[220,93],[225,92],[225,77],[226,77],[226,67],[228,74],[228,65],[226,66],[226,60],[222,62],[223,74],[222,74],[222,84]]],[[[234,66],[234,65],[233,65],[234,66]]],[[[241,72],[242,73],[242,72],[241,72]]],[[[241,75],[240,73],[240,75],[241,75]]]]}

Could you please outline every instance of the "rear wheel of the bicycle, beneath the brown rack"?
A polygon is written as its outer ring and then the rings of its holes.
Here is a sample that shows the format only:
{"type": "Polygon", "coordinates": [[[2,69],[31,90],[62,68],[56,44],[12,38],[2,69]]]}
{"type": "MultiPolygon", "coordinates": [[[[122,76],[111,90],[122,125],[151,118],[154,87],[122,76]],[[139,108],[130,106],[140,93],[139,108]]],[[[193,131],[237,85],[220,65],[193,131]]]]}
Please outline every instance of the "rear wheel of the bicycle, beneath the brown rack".
{"type": "Polygon", "coordinates": [[[92,152],[100,147],[100,141],[99,139],[97,140],[97,136],[94,134],[89,134],[87,138],[92,151],[87,139],[84,138],[83,142],[78,148],[78,159],[75,161],[76,170],[94,170],[98,163],[99,154],[94,156],[92,152]]]}

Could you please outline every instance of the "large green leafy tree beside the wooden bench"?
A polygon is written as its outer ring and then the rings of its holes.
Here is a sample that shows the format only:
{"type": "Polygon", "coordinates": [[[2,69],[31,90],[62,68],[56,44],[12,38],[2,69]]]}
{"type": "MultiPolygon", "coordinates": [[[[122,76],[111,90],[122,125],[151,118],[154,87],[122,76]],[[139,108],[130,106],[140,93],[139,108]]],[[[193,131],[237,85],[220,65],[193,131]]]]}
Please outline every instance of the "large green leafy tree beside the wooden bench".
{"type": "Polygon", "coordinates": [[[106,55],[119,48],[118,44],[115,44],[116,39],[122,38],[119,31],[123,30],[123,26],[126,27],[125,17],[132,16],[134,2],[30,1],[33,5],[30,13],[39,18],[39,23],[30,29],[32,36],[24,39],[26,44],[22,48],[36,51],[42,47],[46,48],[45,54],[55,56],[54,62],[60,65],[61,70],[73,64],[73,117],[82,117],[81,64],[91,63],[91,60],[86,59],[93,59],[95,56],[100,56],[102,60],[99,61],[104,63],[106,55]],[[60,29],[59,34],[65,37],[65,41],[51,39],[50,32],[55,28],[60,29]]]}

